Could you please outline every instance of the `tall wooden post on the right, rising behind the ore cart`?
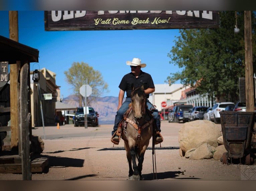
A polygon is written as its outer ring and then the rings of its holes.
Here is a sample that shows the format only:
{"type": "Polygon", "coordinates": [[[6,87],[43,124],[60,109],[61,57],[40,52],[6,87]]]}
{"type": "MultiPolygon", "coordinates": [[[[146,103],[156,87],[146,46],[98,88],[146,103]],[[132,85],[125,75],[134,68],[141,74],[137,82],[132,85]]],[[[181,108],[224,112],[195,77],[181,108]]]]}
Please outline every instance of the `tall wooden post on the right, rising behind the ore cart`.
{"type": "Polygon", "coordinates": [[[246,111],[254,111],[252,20],[251,11],[244,11],[246,111]]]}

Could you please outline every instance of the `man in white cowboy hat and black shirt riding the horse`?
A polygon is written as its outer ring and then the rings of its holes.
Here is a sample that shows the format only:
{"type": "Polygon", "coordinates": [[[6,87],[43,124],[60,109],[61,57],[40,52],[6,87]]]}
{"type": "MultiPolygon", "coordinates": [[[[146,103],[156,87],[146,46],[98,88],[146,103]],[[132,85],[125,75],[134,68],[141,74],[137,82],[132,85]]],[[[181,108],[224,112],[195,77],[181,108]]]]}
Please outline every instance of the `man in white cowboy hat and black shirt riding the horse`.
{"type": "Polygon", "coordinates": [[[122,131],[121,128],[118,128],[120,121],[123,119],[123,114],[129,108],[129,104],[131,103],[131,93],[132,87],[140,88],[143,86],[144,93],[147,99],[147,108],[152,112],[154,118],[154,131],[155,131],[155,144],[161,143],[163,138],[160,134],[160,117],[158,115],[158,110],[153,106],[152,103],[148,100],[149,94],[155,91],[155,86],[150,74],[145,73],[141,70],[141,68],[146,67],[146,64],[141,64],[141,60],[139,58],[134,58],[131,61],[127,61],[126,65],[131,67],[131,72],[126,74],[120,84],[119,84],[119,96],[118,96],[118,107],[117,107],[117,114],[115,117],[115,124],[112,131],[112,138],[111,141],[115,144],[119,143],[120,134],[122,131]],[[126,92],[126,99],[123,102],[124,93],[126,92]]]}

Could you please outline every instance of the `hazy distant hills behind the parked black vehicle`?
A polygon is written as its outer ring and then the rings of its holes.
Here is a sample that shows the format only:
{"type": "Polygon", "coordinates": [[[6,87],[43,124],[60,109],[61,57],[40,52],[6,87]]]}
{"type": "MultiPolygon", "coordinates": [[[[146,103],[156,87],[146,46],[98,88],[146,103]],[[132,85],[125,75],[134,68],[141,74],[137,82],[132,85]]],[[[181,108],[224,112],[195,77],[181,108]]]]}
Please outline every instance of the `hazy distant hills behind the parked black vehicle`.
{"type": "MultiPolygon", "coordinates": [[[[79,100],[75,95],[69,95],[68,97],[63,98],[63,103],[69,105],[79,106],[79,100]]],[[[95,111],[99,113],[99,124],[113,124],[115,121],[117,106],[118,106],[118,97],[106,96],[98,97],[90,105],[94,108],[95,111]]]]}

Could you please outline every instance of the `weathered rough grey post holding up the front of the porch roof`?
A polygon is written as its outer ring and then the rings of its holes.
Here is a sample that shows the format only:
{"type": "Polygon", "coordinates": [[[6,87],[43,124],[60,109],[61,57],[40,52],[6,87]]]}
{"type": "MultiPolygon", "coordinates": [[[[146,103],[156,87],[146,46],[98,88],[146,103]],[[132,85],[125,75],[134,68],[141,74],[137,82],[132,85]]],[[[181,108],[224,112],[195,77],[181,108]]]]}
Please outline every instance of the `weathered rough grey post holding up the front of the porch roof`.
{"type": "Polygon", "coordinates": [[[21,132],[21,167],[22,167],[22,179],[31,180],[31,163],[30,163],[30,134],[29,124],[31,121],[31,113],[29,112],[30,101],[30,83],[29,77],[29,64],[23,63],[20,70],[20,123],[21,132]]]}

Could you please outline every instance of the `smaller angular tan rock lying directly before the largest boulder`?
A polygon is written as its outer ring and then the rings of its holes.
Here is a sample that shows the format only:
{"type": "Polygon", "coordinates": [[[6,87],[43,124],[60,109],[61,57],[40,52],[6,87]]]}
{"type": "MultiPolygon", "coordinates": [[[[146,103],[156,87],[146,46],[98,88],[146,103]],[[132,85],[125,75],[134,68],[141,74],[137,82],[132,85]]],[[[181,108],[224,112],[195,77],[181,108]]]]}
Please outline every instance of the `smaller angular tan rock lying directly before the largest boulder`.
{"type": "Polygon", "coordinates": [[[208,143],[204,143],[190,154],[189,160],[210,159],[212,156],[212,146],[208,143]]]}

